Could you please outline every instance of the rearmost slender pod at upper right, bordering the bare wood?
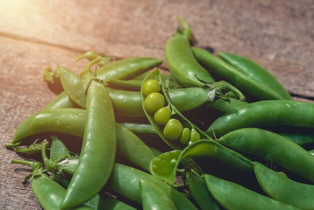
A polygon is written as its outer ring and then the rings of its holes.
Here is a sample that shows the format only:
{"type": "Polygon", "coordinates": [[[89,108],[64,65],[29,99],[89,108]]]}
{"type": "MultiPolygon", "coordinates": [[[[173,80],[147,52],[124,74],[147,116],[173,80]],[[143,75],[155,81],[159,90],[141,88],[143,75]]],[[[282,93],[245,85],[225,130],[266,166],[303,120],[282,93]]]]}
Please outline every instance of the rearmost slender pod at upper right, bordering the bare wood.
{"type": "Polygon", "coordinates": [[[281,95],[283,99],[292,100],[288,91],[282,86],[276,77],[274,77],[267,69],[263,68],[254,61],[244,56],[226,52],[218,52],[218,56],[230,65],[239,69],[244,74],[271,88],[281,95]]]}

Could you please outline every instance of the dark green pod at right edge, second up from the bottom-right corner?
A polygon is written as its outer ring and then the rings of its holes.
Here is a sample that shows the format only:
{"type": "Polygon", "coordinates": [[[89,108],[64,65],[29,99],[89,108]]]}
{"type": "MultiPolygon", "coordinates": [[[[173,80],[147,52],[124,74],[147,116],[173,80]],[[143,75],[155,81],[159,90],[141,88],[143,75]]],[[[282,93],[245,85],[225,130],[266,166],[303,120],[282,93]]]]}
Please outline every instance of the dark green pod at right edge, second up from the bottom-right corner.
{"type": "Polygon", "coordinates": [[[314,182],[314,158],[297,144],[270,131],[246,128],[217,140],[220,144],[266,160],[314,182]]]}

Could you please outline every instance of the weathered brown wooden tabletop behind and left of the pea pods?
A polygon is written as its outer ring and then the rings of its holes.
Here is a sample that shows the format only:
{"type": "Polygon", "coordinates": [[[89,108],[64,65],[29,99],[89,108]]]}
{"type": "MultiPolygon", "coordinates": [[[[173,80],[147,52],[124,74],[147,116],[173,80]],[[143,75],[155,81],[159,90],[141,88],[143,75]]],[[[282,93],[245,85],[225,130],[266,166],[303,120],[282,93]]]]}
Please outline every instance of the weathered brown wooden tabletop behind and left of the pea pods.
{"type": "Polygon", "coordinates": [[[314,98],[312,0],[0,0],[0,209],[40,209],[30,184],[21,183],[27,167],[10,164],[22,157],[4,143],[56,96],[43,81],[43,69],[64,65],[79,73],[86,62],[74,58],[90,49],[118,58],[165,59],[177,15],[190,23],[197,46],[248,56],[294,99],[314,98]]]}

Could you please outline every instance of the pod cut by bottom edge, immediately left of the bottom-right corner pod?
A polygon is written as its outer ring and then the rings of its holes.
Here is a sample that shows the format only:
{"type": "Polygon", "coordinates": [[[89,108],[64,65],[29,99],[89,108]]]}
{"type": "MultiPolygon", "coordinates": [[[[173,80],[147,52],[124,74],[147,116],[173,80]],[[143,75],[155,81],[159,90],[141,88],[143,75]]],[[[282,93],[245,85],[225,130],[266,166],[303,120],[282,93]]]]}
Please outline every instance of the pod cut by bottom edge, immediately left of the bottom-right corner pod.
{"type": "Polygon", "coordinates": [[[204,179],[215,200],[227,210],[300,209],[209,174],[205,174],[204,179]]]}

